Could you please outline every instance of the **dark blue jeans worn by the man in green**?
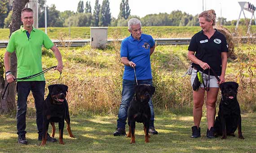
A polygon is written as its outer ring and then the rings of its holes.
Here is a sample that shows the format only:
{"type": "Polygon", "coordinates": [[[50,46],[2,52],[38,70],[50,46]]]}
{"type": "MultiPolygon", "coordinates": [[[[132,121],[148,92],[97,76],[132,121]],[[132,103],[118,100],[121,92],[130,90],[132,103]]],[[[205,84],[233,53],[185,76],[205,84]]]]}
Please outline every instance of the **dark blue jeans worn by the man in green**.
{"type": "Polygon", "coordinates": [[[43,132],[43,103],[45,81],[20,81],[17,82],[17,134],[26,134],[26,101],[30,91],[35,98],[36,125],[38,133],[43,132]]]}

